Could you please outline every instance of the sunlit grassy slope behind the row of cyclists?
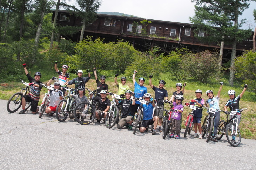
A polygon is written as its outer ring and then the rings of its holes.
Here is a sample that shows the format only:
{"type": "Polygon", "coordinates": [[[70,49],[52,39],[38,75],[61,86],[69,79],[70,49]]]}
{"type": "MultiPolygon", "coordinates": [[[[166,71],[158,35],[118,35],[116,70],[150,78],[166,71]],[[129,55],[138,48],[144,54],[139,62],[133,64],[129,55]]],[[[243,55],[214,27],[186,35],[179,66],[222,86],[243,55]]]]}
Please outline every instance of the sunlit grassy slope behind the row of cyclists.
{"type": "MultiPolygon", "coordinates": [[[[107,80],[106,83],[109,86],[109,91],[112,93],[116,93],[117,92],[117,87],[115,85],[114,82],[114,74],[110,73],[110,72],[103,72],[102,74],[107,75],[107,80]],[[113,77],[110,77],[108,75],[113,75],[113,77]]],[[[99,74],[101,75],[101,74],[99,74]]],[[[98,75],[98,76],[99,76],[98,75]]],[[[47,81],[50,79],[50,77],[52,77],[53,75],[47,75],[47,76],[43,76],[42,77],[42,81],[43,83],[47,83],[47,81]]],[[[57,76],[57,75],[55,75],[57,76]]],[[[85,75],[87,76],[87,75],[85,75]]],[[[120,75],[118,77],[118,82],[120,82],[120,78],[122,75],[120,75]]],[[[131,75],[132,76],[132,75],[131,75]]],[[[167,89],[168,93],[169,93],[169,99],[172,95],[172,93],[174,91],[176,91],[175,88],[175,84],[177,83],[176,81],[172,81],[172,80],[168,80],[167,78],[168,75],[162,75],[162,79],[166,80],[167,84],[164,88],[167,89]]],[[[75,78],[75,75],[71,76],[71,79],[75,78]]],[[[136,78],[138,79],[138,78],[136,78]]],[[[25,81],[27,81],[27,79],[24,79],[25,81]]],[[[223,80],[224,81],[224,80],[223,80]]],[[[183,83],[183,82],[182,82],[183,83]]],[[[15,93],[15,92],[19,92],[20,89],[23,87],[23,84],[19,83],[19,82],[8,82],[8,85],[6,85],[6,83],[1,83],[0,84],[0,99],[4,99],[4,100],[8,100],[9,97],[15,93]]],[[[222,88],[222,92],[221,92],[221,96],[220,96],[220,108],[223,109],[225,103],[227,102],[227,100],[229,99],[228,95],[227,95],[227,91],[231,89],[231,87],[227,86],[227,82],[224,81],[224,86],[222,88]],[[225,86],[226,85],[226,86],[225,86]]],[[[133,82],[132,79],[128,79],[127,81],[127,85],[130,87],[131,90],[134,90],[134,86],[133,86],[133,82]]],[[[158,86],[158,80],[154,80],[153,77],[153,85],[158,86]]],[[[71,85],[70,87],[73,87],[74,85],[71,85]]],[[[145,82],[145,86],[148,88],[148,92],[154,95],[154,91],[150,88],[149,83],[148,83],[148,78],[146,78],[146,82],[145,82]]],[[[89,88],[90,90],[93,90],[96,88],[96,81],[95,78],[92,77],[88,83],[86,83],[86,87],[89,88]]],[[[195,97],[195,90],[196,89],[201,89],[203,92],[205,92],[206,90],[213,90],[214,94],[216,95],[218,92],[218,88],[220,87],[219,83],[216,84],[200,84],[200,83],[196,83],[196,82],[187,82],[187,86],[185,87],[185,94],[184,94],[184,102],[189,102],[191,99],[193,99],[195,97]]],[[[242,91],[242,87],[241,86],[237,86],[232,88],[236,91],[237,95],[241,93],[242,91]]],[[[40,99],[42,100],[45,92],[47,90],[45,88],[43,88],[42,92],[41,92],[41,97],[40,99]]],[[[202,95],[203,99],[207,99],[207,96],[203,93],[202,95]]],[[[245,92],[243,98],[240,100],[240,108],[248,108],[247,111],[244,111],[242,114],[242,120],[240,123],[240,130],[242,133],[242,137],[245,138],[249,138],[249,139],[256,139],[256,105],[255,105],[255,93],[249,93],[249,92],[245,92]]],[[[41,103],[41,100],[39,103],[41,103]]],[[[166,108],[168,108],[168,105],[166,105],[166,108]]],[[[188,113],[190,112],[190,109],[188,107],[185,107],[185,111],[183,112],[183,128],[184,128],[184,120],[186,120],[186,116],[188,115],[188,113]]],[[[204,119],[204,117],[206,116],[206,111],[204,109],[203,111],[203,118],[202,121],[204,119]]],[[[226,120],[226,116],[225,114],[222,112],[221,113],[221,120],[226,120]]],[[[224,136],[225,137],[225,136],[224,136]]]]}

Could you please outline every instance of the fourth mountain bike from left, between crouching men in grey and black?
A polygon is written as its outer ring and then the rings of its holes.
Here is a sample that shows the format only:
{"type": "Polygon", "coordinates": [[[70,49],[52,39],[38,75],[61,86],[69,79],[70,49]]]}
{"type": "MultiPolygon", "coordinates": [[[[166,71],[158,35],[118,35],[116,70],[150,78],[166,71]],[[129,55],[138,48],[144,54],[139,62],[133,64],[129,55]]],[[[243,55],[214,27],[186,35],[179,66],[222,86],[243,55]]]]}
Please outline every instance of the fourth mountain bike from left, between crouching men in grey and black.
{"type": "Polygon", "coordinates": [[[95,95],[99,94],[97,93],[97,89],[94,91],[88,88],[85,89],[89,91],[89,95],[92,95],[92,97],[89,97],[87,102],[79,103],[74,109],[75,120],[81,125],[89,125],[94,121],[95,110],[97,110],[99,106],[99,102],[95,101],[95,95]]]}

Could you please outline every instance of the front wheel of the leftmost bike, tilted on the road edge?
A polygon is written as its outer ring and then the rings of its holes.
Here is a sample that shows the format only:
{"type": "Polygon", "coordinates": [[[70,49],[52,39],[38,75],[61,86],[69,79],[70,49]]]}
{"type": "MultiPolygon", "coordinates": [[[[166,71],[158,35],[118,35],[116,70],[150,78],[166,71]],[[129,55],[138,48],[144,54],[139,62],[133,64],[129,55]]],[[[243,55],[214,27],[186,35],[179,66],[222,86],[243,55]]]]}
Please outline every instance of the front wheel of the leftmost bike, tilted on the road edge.
{"type": "Polygon", "coordinates": [[[15,93],[9,98],[7,102],[7,111],[9,113],[14,113],[18,111],[18,109],[21,106],[22,97],[23,97],[22,93],[15,93]]]}

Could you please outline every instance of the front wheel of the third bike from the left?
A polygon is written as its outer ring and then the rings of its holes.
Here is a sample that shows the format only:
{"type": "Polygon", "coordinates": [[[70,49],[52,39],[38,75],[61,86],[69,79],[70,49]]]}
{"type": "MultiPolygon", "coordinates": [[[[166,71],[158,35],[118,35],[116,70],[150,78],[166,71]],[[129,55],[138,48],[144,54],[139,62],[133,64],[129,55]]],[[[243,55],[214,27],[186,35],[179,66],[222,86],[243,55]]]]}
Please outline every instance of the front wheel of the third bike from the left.
{"type": "Polygon", "coordinates": [[[64,122],[69,114],[69,104],[67,103],[67,99],[62,99],[59,101],[56,107],[56,118],[59,122],[64,122]]]}

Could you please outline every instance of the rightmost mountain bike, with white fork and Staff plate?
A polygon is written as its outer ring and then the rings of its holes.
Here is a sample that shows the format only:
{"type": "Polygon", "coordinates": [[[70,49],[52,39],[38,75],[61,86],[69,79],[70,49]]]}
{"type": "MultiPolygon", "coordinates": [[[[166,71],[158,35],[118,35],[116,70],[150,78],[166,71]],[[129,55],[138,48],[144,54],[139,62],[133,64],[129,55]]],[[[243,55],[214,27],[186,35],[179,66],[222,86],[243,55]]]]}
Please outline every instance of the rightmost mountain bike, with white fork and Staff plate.
{"type": "Polygon", "coordinates": [[[218,124],[218,129],[217,129],[217,135],[216,139],[220,140],[222,136],[225,134],[228,140],[228,143],[231,146],[238,146],[241,142],[241,133],[238,128],[238,115],[241,115],[241,112],[246,110],[245,109],[240,109],[236,111],[231,111],[231,112],[226,112],[225,114],[227,115],[227,120],[221,120],[220,123],[218,124]],[[231,119],[229,119],[229,115],[231,115],[231,119]]]}

